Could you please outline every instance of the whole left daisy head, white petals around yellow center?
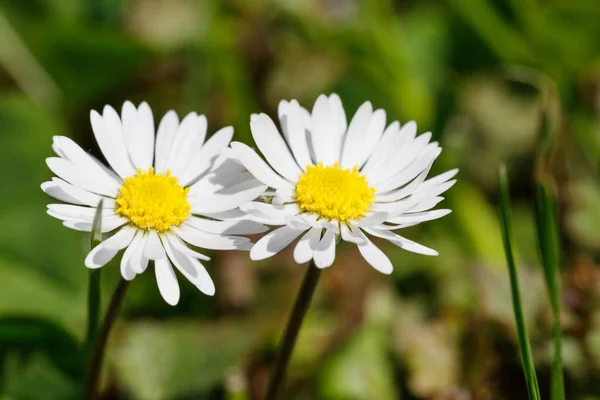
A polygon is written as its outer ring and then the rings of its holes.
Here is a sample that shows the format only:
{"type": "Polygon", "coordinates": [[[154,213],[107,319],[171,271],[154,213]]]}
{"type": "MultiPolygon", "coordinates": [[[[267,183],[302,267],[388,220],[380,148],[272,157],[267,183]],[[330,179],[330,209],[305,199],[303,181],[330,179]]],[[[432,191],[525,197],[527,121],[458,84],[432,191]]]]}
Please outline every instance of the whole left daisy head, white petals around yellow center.
{"type": "Polygon", "coordinates": [[[58,178],[42,184],[44,192],[71,204],[50,204],[48,214],[63,225],[91,231],[102,200],[102,231],[114,234],[86,257],[88,268],[100,268],[121,249],[121,274],[133,279],[154,261],[158,288],[171,305],[179,301],[172,264],[202,292],[215,286],[199,260],[208,260],[190,246],[249,250],[247,238],[264,232],[260,223],[243,220],[239,206],[266,186],[244,168],[220,156],[233,128],[205,141],[204,115],[188,114],[181,122],[174,111],[154,131],[152,111],[126,102],[121,117],[106,106],[91,112],[96,141],[110,168],[64,136],[54,137],[58,157],[46,160],[58,178]]]}

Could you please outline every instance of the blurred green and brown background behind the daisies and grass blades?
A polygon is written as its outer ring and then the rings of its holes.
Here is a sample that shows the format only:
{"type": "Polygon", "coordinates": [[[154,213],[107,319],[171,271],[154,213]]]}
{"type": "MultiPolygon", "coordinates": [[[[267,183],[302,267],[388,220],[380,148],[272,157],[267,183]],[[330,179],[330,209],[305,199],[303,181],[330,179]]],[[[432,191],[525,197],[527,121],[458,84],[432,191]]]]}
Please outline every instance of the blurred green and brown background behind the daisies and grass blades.
{"type": "MultiPolygon", "coordinates": [[[[542,397],[551,311],[533,221],[542,109],[557,133],[568,399],[600,399],[600,2],[597,0],[0,0],[0,399],[76,399],[89,237],[45,214],[53,135],[95,154],[90,109],[146,100],[233,125],[281,99],[337,92],[414,119],[459,167],[454,212],[407,229],[440,252],[380,242],[391,277],[342,245],[325,271],[285,399],[525,399],[495,210],[511,175],[521,289],[542,397]]],[[[106,399],[258,399],[304,266],[290,252],[214,255],[217,294],[152,273],[110,341],[106,399]]],[[[103,269],[103,299],[119,268],[103,269]]]]}

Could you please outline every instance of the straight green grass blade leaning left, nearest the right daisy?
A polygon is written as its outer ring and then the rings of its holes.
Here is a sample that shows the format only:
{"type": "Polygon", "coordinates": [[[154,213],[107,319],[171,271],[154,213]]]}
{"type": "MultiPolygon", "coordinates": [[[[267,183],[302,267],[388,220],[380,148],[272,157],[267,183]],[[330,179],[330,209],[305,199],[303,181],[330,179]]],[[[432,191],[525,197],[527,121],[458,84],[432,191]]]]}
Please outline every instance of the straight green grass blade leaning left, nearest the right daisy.
{"type": "Polygon", "coordinates": [[[502,230],[502,241],[506,253],[506,263],[508,264],[508,273],[510,276],[510,289],[512,293],[513,311],[515,323],[517,325],[517,337],[519,341],[519,351],[521,353],[521,363],[523,364],[523,373],[527,385],[529,400],[540,400],[540,389],[538,386],[535,366],[531,356],[531,347],[529,345],[529,336],[525,327],[523,318],[523,307],[521,306],[521,295],[519,293],[519,279],[517,276],[517,266],[513,252],[512,238],[512,220],[510,212],[510,196],[508,191],[508,178],[506,167],[501,166],[498,170],[498,189],[500,193],[500,221],[502,230]]]}

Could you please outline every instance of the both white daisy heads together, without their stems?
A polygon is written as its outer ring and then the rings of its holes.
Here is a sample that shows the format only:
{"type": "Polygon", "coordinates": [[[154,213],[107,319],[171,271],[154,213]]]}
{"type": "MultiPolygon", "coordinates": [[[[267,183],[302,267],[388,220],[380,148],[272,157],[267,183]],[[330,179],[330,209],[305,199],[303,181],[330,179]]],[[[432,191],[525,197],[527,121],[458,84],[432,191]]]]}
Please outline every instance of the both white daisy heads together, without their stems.
{"type": "Polygon", "coordinates": [[[348,123],[335,94],[319,96],[312,112],[295,100],[282,101],[278,114],[281,132],[266,114],[251,117],[263,159],[231,142],[232,127],[206,140],[204,115],[190,113],[180,121],[169,111],[155,129],[146,103],[136,108],[126,102],[120,116],[110,106],[102,114],[92,111],[108,166],[71,139],[54,137],[57,157],[46,161],[57,177],[42,189],[69,204],[50,204],[48,214],[89,232],[101,207],[101,230],[110,237],[85,265],[100,268],[125,249],[121,274],[132,280],[153,261],[159,291],[171,305],[180,295],[173,266],[200,291],[214,294],[202,265],[209,258],[199,249],[250,250],[253,260],[261,260],[299,238],[295,261],[314,260],[325,268],[341,238],[385,274],[392,264],[367,234],[437,255],[393,232],[450,212],[432,210],[457,171],[427,179],[441,152],[431,133],[417,136],[412,121],[386,127],[385,111],[373,110],[370,102],[348,123]],[[270,229],[255,244],[243,236],[270,229]]]}

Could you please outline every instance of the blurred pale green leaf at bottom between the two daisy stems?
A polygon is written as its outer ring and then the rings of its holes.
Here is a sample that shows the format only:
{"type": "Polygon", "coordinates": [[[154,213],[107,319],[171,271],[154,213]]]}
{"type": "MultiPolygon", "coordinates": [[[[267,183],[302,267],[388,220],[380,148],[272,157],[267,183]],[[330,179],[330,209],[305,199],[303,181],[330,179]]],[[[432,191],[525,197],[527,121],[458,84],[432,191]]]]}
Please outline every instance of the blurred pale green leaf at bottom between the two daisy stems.
{"type": "Polygon", "coordinates": [[[212,388],[239,365],[256,337],[242,325],[138,322],[116,331],[110,357],[133,398],[173,399],[212,388]]]}

